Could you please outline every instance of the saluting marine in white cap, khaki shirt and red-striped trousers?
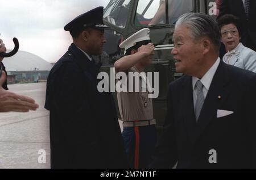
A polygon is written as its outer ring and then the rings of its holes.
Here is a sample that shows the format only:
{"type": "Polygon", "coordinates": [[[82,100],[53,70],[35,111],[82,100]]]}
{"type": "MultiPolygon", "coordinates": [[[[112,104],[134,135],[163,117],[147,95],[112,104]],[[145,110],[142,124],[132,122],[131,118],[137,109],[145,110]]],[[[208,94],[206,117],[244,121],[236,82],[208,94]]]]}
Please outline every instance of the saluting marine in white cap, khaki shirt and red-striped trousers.
{"type": "MultiPolygon", "coordinates": [[[[126,154],[130,168],[147,168],[156,143],[156,121],[153,117],[152,99],[148,98],[147,87],[150,85],[143,73],[144,68],[151,64],[154,55],[150,30],[144,28],[138,31],[123,41],[119,47],[125,48],[127,56],[115,62],[116,72],[140,73],[141,75],[139,92],[128,92],[129,81],[132,79],[126,76],[127,83],[123,83],[123,86],[127,87],[127,92],[117,93],[119,111],[123,121],[126,154]]],[[[134,86],[136,86],[135,83],[133,83],[134,86]]]]}

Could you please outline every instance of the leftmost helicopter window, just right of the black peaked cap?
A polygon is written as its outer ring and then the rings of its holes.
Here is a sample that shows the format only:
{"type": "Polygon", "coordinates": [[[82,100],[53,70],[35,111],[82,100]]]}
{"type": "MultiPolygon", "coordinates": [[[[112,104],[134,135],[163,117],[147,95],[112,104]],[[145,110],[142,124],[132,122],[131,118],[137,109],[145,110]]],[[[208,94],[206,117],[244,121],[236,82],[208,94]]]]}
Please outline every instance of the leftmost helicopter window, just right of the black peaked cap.
{"type": "Polygon", "coordinates": [[[130,2],[131,0],[112,1],[112,4],[105,9],[104,20],[117,27],[125,28],[130,2]]]}

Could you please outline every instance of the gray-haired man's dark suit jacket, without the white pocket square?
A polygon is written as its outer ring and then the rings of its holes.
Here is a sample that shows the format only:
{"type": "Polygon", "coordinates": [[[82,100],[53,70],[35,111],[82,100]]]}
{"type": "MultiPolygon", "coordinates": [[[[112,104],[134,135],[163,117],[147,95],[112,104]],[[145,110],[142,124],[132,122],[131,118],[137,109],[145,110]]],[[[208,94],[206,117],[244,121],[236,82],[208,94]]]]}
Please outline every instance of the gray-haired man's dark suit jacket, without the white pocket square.
{"type": "Polygon", "coordinates": [[[196,123],[192,77],[172,82],[163,136],[150,167],[177,162],[177,168],[256,168],[255,92],[255,73],[220,62],[196,123]],[[217,118],[217,110],[234,113],[217,118]],[[216,164],[210,163],[212,155],[216,164]]]}

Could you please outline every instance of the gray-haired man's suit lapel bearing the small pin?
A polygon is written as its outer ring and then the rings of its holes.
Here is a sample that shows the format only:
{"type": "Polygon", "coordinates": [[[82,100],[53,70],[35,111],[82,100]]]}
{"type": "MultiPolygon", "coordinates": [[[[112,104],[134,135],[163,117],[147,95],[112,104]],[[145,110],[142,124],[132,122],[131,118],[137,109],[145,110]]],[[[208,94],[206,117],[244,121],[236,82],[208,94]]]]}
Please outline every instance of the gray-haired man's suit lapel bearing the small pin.
{"type": "Polygon", "coordinates": [[[228,90],[226,87],[228,86],[229,78],[228,73],[226,73],[227,71],[227,65],[221,61],[214,74],[199,120],[196,124],[195,140],[200,137],[207,125],[212,120],[216,119],[218,108],[221,107],[221,104],[224,103],[228,97],[228,90]]]}

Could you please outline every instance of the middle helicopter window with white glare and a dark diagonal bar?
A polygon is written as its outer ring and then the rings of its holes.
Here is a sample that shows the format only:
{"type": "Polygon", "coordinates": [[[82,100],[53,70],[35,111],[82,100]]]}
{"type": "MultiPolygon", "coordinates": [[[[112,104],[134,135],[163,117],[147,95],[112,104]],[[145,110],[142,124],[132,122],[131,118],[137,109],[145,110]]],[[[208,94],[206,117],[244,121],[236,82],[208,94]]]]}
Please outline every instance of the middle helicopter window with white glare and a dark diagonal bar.
{"type": "MultiPolygon", "coordinates": [[[[139,0],[135,25],[147,26],[151,24],[152,19],[160,14],[160,7],[166,9],[166,0],[139,0]]],[[[164,14],[164,12],[163,12],[164,14]]],[[[161,16],[155,24],[166,24],[166,16],[161,16]]]]}

